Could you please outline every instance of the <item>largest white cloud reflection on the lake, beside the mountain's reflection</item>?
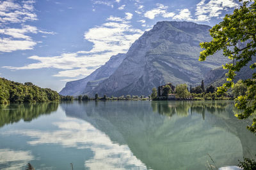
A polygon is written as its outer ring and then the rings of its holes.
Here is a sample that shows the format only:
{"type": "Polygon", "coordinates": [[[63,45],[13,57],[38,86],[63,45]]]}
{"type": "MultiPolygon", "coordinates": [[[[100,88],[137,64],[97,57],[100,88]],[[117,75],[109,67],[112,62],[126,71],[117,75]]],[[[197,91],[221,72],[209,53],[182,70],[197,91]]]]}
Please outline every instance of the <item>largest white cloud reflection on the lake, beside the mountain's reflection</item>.
{"type": "Polygon", "coordinates": [[[84,162],[90,169],[147,169],[138,160],[127,145],[113,143],[111,139],[88,122],[75,122],[73,118],[64,122],[55,122],[57,131],[12,131],[4,134],[29,136],[30,145],[58,144],[64,147],[89,148],[93,151],[92,159],[84,162]]]}

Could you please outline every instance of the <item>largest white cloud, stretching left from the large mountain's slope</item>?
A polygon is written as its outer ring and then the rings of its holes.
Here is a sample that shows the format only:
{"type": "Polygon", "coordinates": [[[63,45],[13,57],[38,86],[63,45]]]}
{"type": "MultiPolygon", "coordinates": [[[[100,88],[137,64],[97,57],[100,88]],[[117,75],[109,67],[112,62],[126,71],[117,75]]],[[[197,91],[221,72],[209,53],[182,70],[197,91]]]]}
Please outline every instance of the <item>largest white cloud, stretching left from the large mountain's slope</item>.
{"type": "MultiPolygon", "coordinates": [[[[110,19],[117,20],[118,17],[109,17],[110,19]]],[[[62,53],[53,57],[35,55],[28,57],[28,59],[37,60],[38,62],[21,67],[5,66],[4,68],[12,70],[56,68],[63,71],[54,74],[54,76],[87,76],[95,70],[95,67],[107,62],[112,55],[127,52],[131,44],[141,34],[143,34],[143,31],[134,29],[127,22],[106,22],[84,33],[84,39],[93,43],[90,51],[62,53]]]]}

